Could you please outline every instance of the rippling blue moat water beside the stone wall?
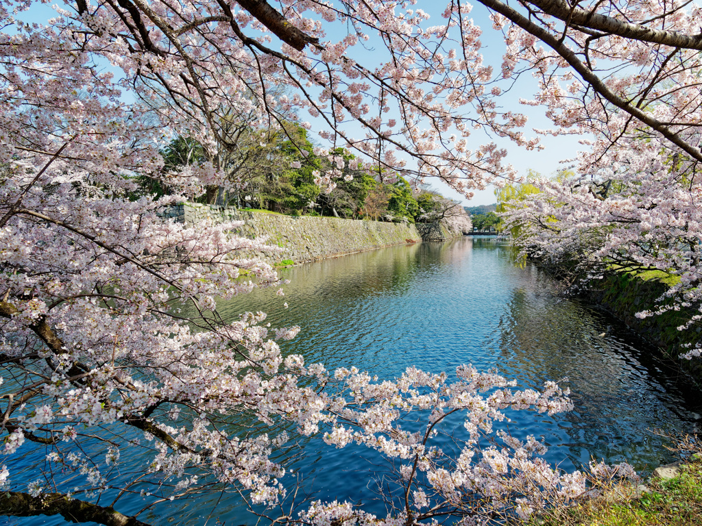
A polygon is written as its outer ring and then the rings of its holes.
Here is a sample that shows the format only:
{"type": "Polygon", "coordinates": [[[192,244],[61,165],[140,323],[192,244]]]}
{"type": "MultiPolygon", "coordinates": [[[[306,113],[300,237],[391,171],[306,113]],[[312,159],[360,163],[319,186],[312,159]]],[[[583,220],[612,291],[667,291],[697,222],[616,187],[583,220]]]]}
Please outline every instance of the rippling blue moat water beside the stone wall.
{"type": "MultiPolygon", "coordinates": [[[[220,308],[231,319],[261,310],[274,327],[300,325],[284,353],[301,353],[306,363],[356,365],[381,378],[399,376],[408,365],[453,374],[472,363],[537,389],[568,377],[572,412],[510,412],[509,424],[512,436],[543,438],[547,459],[564,469],[595,457],[649,472],[670,459],[665,439],[652,431],[689,432],[699,418],[698,393],[647,344],[595,306],[558,297],[557,283],[536,267],[515,267],[506,243],[463,238],[399,246],[282,274],[291,281],[284,298],[258,291],[220,308]]],[[[302,476],[316,498],[360,501],[384,515],[369,484],[372,473],[383,471],[381,462],[368,450],[337,450],[314,439],[283,482],[302,476]]],[[[210,514],[208,524],[255,522],[234,497],[195,498],[142,520],[202,524],[210,514]]]]}

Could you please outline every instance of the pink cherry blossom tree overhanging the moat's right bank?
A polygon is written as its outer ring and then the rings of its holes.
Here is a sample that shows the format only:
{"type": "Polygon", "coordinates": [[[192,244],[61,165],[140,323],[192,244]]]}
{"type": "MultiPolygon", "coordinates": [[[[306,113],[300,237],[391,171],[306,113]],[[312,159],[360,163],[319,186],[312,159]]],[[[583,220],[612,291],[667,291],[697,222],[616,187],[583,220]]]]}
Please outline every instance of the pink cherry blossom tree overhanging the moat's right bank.
{"type": "MultiPolygon", "coordinates": [[[[508,206],[524,250],[574,264],[585,279],[613,269],[679,276],[655,309],[702,319],[700,126],[702,36],[692,2],[483,2],[508,42],[503,72],[531,70],[555,127],[589,149],[574,171],[536,178],[508,206]],[[665,302],[665,304],[663,304],[665,302]]],[[[516,231],[516,230],[515,230],[516,231]]],[[[698,353],[697,351],[693,351],[698,353]]],[[[689,355],[688,355],[689,356],[689,355]]]]}

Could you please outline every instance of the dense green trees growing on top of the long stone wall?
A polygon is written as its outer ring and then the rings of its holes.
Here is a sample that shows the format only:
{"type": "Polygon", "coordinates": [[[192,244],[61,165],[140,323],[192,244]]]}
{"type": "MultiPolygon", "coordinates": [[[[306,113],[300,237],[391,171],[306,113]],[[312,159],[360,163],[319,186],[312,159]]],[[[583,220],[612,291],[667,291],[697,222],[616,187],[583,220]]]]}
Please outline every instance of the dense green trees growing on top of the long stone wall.
{"type": "MultiPolygon", "coordinates": [[[[337,156],[340,179],[333,189],[321,191],[315,182],[322,171],[330,171],[330,161],[314,153],[314,146],[307,139],[307,130],[289,124],[286,135],[270,137],[266,163],[256,162],[246,167],[246,180],[228,181],[227,190],[212,187],[198,196],[196,201],[207,204],[258,208],[291,215],[322,215],[348,219],[373,219],[395,222],[431,222],[436,218],[430,213],[441,208],[444,198],[436,192],[412,189],[404,178],[376,177],[373,173],[355,166],[357,159],[343,148],[331,152],[337,156]],[[295,135],[295,140],[289,134],[295,135]],[[273,163],[272,160],[275,162],[273,163]],[[383,182],[383,179],[385,182],[383,182]],[[380,196],[380,201],[378,201],[380,196]],[[378,202],[373,202],[376,199],[378,202]]],[[[177,137],[161,151],[164,170],[174,170],[207,161],[204,148],[194,140],[177,137]]],[[[240,168],[244,170],[244,168],[240,168]]],[[[140,175],[140,190],[136,196],[161,198],[173,194],[161,180],[140,175]]]]}

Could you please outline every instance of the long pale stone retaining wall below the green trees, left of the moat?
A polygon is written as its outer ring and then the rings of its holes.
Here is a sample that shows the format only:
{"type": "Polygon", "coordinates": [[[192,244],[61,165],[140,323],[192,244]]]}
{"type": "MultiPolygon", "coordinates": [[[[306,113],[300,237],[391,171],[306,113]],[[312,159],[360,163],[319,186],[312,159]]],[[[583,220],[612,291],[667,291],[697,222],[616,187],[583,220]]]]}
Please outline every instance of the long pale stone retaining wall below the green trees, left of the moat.
{"type": "Polygon", "coordinates": [[[292,259],[295,263],[303,263],[421,240],[413,224],[336,217],[291,217],[195,203],[172,206],[164,210],[164,217],[173,217],[186,224],[197,224],[206,217],[216,221],[244,221],[243,227],[234,230],[237,234],[247,238],[268,236],[268,244],[286,249],[282,254],[256,254],[272,262],[292,259]]]}

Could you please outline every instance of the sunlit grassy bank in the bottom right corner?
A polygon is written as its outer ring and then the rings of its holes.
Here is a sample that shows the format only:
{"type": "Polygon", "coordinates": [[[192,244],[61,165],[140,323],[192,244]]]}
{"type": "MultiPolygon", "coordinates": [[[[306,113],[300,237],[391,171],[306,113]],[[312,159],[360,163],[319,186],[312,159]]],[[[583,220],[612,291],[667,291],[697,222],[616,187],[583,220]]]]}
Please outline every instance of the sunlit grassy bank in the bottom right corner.
{"type": "Polygon", "coordinates": [[[524,522],[528,526],[698,526],[702,525],[702,461],[682,466],[670,480],[651,480],[640,498],[623,487],[600,499],[555,508],[524,522]]]}

